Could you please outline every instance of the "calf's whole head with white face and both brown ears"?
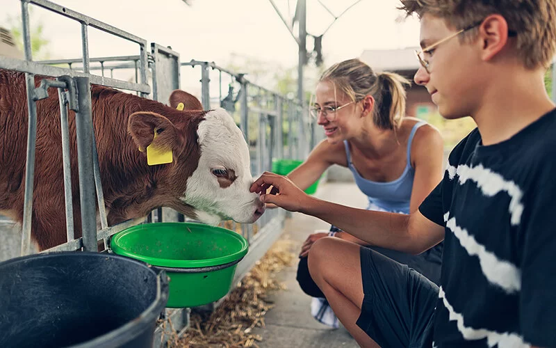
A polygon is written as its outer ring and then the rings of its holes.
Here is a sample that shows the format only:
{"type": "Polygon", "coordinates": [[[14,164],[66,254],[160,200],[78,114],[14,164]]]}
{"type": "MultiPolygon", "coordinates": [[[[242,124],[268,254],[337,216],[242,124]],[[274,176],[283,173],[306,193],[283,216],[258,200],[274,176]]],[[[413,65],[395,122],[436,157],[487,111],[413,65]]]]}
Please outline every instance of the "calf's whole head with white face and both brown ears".
{"type": "Polygon", "coordinates": [[[145,155],[147,149],[165,152],[167,163],[152,168],[162,176],[156,194],[160,205],[210,224],[259,219],[264,205],[249,190],[249,149],[234,119],[224,109],[200,110],[199,100],[182,90],[174,90],[170,105],[164,116],[141,111],[128,123],[145,155]]]}

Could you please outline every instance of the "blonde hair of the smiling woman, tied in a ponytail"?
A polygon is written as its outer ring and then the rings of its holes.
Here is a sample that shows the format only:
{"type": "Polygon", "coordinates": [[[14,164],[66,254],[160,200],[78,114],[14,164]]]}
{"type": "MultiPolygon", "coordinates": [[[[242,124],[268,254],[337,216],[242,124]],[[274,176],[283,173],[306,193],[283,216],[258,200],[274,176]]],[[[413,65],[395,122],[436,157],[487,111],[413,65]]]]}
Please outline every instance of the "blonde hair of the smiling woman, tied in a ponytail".
{"type": "Polygon", "coordinates": [[[366,95],[375,98],[373,122],[381,129],[397,129],[405,116],[404,77],[393,72],[375,74],[372,68],[359,59],[336,63],[320,77],[331,81],[334,88],[341,90],[353,102],[363,100],[366,95]]]}

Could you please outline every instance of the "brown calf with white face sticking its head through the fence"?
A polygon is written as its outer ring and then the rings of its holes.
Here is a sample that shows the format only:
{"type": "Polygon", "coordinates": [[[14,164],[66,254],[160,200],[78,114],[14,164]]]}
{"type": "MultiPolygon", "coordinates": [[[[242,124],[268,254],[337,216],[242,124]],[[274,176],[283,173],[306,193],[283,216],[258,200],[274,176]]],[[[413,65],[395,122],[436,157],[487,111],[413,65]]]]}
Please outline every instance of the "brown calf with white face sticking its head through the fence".
{"type": "MultiPolygon", "coordinates": [[[[35,84],[40,79],[35,77],[35,84]]],[[[202,111],[197,98],[174,90],[171,106],[104,86],[91,87],[108,224],[171,207],[215,224],[252,223],[264,212],[250,193],[250,155],[243,134],[223,109],[202,111]],[[185,107],[184,107],[185,106],[185,107]],[[183,109],[183,110],[181,110],[183,109]],[[151,148],[149,148],[149,146],[151,148]],[[166,164],[149,165],[149,150],[166,164]]],[[[63,163],[58,93],[37,102],[37,145],[31,235],[39,250],[65,242],[63,163]]],[[[74,112],[70,153],[76,237],[81,235],[74,112]]],[[[22,221],[27,141],[24,74],[0,70],[0,214],[22,221]]]]}

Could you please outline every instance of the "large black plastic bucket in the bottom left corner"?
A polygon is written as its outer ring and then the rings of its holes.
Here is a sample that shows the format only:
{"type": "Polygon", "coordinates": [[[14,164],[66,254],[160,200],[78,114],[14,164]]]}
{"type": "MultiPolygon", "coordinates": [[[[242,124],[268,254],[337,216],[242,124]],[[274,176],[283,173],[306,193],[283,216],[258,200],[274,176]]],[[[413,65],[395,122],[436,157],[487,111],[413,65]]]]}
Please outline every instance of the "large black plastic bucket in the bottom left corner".
{"type": "Polygon", "coordinates": [[[152,347],[164,271],[107,253],[0,263],[0,347],[152,347]]]}

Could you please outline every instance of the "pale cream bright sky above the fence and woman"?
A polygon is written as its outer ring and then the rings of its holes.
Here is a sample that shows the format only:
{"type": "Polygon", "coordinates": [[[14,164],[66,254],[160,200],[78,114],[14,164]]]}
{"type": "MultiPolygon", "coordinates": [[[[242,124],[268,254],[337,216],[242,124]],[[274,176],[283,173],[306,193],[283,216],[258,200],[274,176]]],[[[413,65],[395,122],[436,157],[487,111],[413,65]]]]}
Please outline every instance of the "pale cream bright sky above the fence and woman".
{"type": "MultiPolygon", "coordinates": [[[[307,31],[320,35],[334,17],[357,0],[306,0],[307,31]]],[[[281,21],[270,0],[56,0],[60,6],[111,24],[118,29],[170,45],[181,54],[181,61],[195,58],[225,65],[232,53],[297,65],[297,43],[281,21]]],[[[274,0],[288,20],[295,0],[274,0]]],[[[0,0],[0,25],[8,16],[20,13],[19,0],[0,0]]],[[[325,33],[322,40],[325,65],[361,55],[366,49],[393,49],[418,45],[418,22],[397,23],[397,0],[361,0],[325,33]]],[[[44,24],[44,35],[51,40],[52,58],[81,56],[80,29],[76,22],[31,6],[32,21],[44,24]]],[[[297,35],[297,33],[296,33],[297,35]]],[[[90,29],[90,56],[137,54],[137,45],[114,39],[90,29]]],[[[313,47],[311,38],[307,48],[313,47]]]]}

